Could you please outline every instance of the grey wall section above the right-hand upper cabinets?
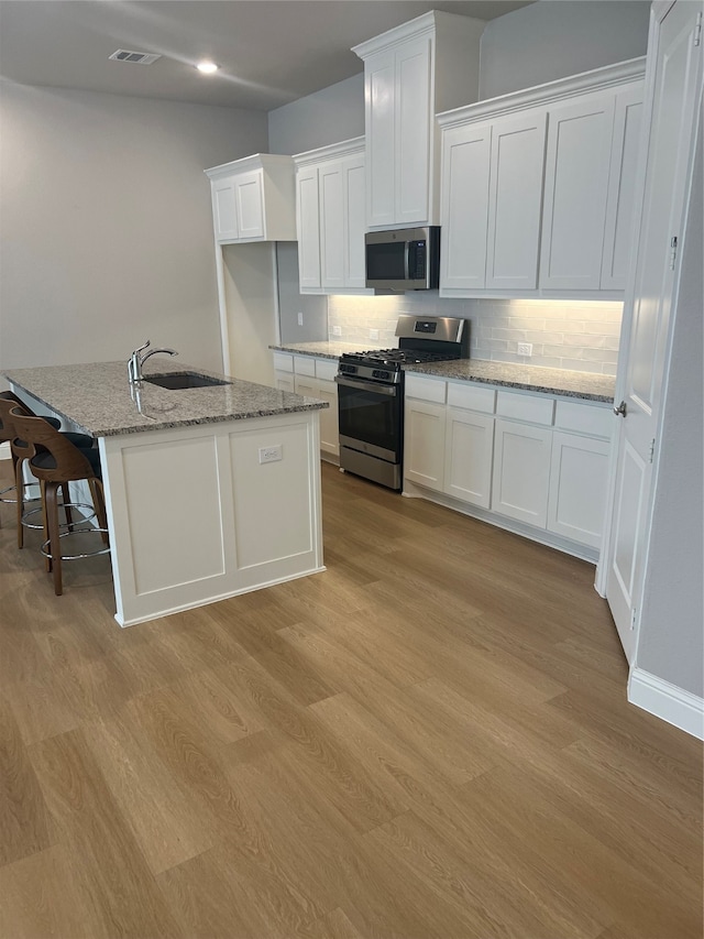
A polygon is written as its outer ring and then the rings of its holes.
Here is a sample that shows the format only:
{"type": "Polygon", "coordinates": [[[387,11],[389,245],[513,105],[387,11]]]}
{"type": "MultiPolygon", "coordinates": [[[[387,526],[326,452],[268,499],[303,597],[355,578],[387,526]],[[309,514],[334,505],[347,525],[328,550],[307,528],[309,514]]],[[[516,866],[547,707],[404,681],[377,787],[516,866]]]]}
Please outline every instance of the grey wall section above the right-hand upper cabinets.
{"type": "Polygon", "coordinates": [[[645,55],[649,13],[642,0],[539,0],[491,20],[480,99],[645,55]]]}

